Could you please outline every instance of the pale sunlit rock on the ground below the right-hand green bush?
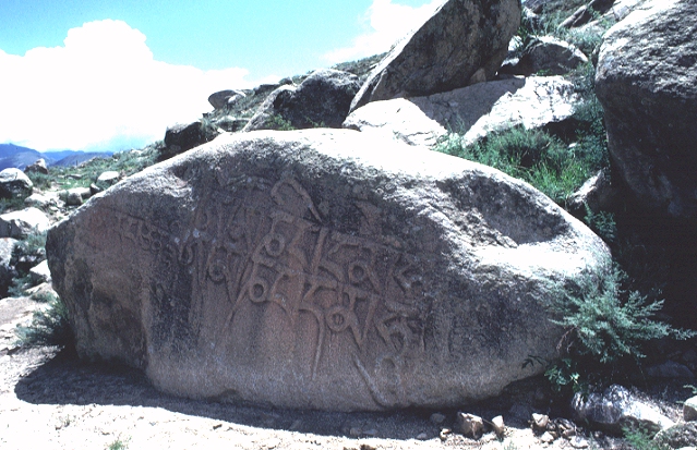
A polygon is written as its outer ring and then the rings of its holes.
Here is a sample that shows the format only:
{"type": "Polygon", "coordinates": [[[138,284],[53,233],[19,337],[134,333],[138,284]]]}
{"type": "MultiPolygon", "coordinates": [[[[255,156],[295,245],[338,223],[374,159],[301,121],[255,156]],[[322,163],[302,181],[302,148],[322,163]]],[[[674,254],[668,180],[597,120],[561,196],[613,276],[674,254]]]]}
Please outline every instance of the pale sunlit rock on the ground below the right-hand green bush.
{"type": "Polygon", "coordinates": [[[625,427],[636,426],[658,433],[674,425],[660,411],[635,399],[627,389],[617,385],[587,398],[577,393],[572,401],[572,409],[577,418],[614,434],[622,434],[625,427]]]}

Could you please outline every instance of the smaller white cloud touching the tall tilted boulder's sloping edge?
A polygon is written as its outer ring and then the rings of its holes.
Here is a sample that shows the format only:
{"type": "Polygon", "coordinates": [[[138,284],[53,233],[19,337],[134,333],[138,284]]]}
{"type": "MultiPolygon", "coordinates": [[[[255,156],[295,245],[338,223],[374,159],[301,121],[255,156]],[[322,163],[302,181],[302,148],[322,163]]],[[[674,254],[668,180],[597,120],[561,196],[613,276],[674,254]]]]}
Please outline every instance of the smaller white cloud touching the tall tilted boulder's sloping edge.
{"type": "Polygon", "coordinates": [[[365,13],[370,28],[353,40],[353,45],[333,50],[324,56],[329,63],[356,60],[382,53],[410,31],[423,25],[443,0],[431,0],[419,8],[393,3],[393,0],[373,0],[365,13]]]}

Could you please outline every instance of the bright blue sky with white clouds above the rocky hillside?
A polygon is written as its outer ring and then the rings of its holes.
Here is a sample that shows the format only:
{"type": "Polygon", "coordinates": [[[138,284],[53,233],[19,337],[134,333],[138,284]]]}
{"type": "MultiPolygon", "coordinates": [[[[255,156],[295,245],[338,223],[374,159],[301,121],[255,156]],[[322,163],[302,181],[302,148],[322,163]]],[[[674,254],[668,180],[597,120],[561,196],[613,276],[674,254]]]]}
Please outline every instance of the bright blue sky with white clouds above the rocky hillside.
{"type": "Polygon", "coordinates": [[[122,150],[209,94],[385,51],[442,0],[1,0],[0,143],[122,150]]]}

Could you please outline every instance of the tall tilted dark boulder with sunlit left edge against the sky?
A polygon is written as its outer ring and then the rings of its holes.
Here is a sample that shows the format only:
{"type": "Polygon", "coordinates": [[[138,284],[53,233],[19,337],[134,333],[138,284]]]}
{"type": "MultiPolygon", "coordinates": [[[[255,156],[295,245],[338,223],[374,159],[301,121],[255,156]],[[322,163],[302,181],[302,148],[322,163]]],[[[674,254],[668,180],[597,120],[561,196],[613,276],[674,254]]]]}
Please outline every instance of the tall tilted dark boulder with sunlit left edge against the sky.
{"type": "Polygon", "coordinates": [[[519,0],[448,0],[370,73],[351,111],[492,80],[520,25],[519,0]]]}

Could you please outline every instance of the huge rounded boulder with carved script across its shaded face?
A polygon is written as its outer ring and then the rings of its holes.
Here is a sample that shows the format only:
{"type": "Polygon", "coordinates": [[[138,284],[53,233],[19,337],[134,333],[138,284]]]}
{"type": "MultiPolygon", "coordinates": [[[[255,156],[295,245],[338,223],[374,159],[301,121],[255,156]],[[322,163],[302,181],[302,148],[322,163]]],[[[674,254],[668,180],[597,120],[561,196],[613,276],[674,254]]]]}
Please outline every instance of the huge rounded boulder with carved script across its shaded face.
{"type": "Polygon", "coordinates": [[[350,130],[224,134],[48,233],[85,358],[274,408],[454,408],[539,374],[602,241],[497,170],[350,130]]]}

